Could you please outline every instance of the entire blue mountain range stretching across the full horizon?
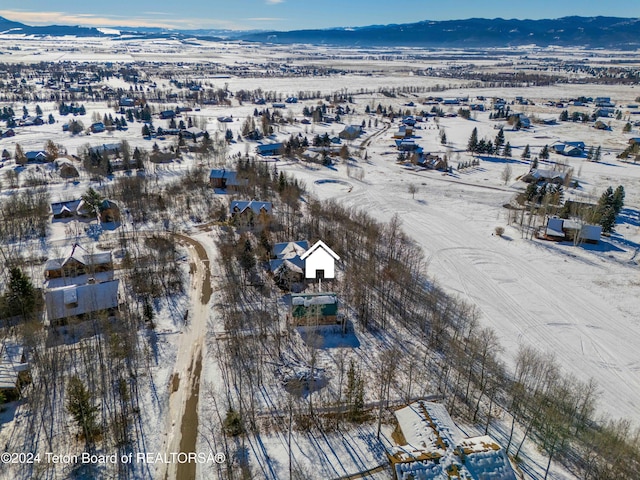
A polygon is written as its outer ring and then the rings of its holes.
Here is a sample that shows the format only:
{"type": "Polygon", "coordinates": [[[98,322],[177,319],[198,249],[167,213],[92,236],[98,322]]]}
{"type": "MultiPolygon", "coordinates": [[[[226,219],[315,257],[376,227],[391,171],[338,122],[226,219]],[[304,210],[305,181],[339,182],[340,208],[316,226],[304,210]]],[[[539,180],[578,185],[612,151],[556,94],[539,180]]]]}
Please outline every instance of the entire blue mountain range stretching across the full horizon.
{"type": "MultiPolygon", "coordinates": [[[[618,17],[563,17],[546,20],[483,19],[420,21],[398,25],[371,25],[290,31],[170,30],[116,27],[121,35],[234,39],[264,43],[307,43],[339,46],[510,47],[521,45],[586,48],[640,48],[640,19],[618,17]]],[[[117,35],[109,30],[80,26],[29,26],[0,17],[0,35],[117,35]]]]}

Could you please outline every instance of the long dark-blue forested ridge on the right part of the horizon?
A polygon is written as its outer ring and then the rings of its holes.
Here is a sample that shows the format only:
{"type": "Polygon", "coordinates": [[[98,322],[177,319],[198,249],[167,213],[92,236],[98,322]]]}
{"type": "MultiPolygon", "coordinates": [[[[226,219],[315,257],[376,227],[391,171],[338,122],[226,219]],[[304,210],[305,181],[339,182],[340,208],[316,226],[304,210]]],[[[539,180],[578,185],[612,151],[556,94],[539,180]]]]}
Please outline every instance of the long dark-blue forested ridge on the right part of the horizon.
{"type": "Polygon", "coordinates": [[[553,20],[425,20],[401,25],[259,32],[241,38],[268,43],[344,46],[481,48],[536,44],[631,49],[640,47],[640,19],[563,17],[553,20]]]}

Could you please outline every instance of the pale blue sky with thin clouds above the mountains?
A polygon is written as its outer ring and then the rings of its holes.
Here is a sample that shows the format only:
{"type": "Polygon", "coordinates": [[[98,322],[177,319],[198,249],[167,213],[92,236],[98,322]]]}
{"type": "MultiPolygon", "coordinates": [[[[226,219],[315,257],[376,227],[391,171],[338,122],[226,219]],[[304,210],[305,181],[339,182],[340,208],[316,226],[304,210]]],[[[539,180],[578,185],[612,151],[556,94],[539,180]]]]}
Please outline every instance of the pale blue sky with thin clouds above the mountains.
{"type": "Polygon", "coordinates": [[[2,0],[0,16],[30,25],[295,30],[419,20],[640,17],[640,0],[2,0]]]}

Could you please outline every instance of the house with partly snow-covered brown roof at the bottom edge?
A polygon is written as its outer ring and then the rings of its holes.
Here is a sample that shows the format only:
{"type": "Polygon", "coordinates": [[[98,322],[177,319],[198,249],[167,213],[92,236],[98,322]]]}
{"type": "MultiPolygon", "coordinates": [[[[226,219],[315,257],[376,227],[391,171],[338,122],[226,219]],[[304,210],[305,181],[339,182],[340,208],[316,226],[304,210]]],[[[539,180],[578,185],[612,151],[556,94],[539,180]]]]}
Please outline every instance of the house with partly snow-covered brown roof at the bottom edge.
{"type": "Polygon", "coordinates": [[[444,405],[420,400],[395,416],[404,440],[388,452],[395,480],[516,480],[504,449],[488,435],[467,437],[444,405]]]}

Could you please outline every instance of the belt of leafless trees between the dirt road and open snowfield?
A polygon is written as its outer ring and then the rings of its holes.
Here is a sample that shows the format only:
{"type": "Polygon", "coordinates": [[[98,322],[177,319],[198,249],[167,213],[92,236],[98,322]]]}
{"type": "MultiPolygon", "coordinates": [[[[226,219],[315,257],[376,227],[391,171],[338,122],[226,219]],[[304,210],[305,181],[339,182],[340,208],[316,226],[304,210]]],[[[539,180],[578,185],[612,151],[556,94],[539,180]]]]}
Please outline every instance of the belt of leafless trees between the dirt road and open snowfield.
{"type": "MultiPolygon", "coordinates": [[[[638,434],[628,423],[595,417],[596,385],[566,376],[552,357],[532,348],[521,348],[514,371],[509,371],[501,361],[497,335],[479,326],[476,310],[425,277],[422,252],[402,232],[398,217],[380,223],[361,210],[308,196],[302,214],[301,205],[291,203],[301,186],[285,193],[295,185],[290,178],[249,160],[243,160],[239,170],[251,178],[247,188],[274,202],[276,216],[268,231],[239,235],[229,230],[219,242],[220,308],[228,339],[216,342],[215,348],[228,395],[217,409],[221,419],[225,412],[238,412],[241,436],[262,428],[257,396],[273,374],[267,365],[292,354],[311,371],[317,362],[313,335],[305,337],[308,347],[301,348],[283,333],[278,322],[283,314],[272,301],[280,295],[278,289],[268,279],[252,281],[250,272],[268,259],[276,241],[321,238],[348,265],[331,289],[343,299],[350,317],[391,342],[411,337],[415,345],[403,343],[391,358],[380,354],[366,367],[361,361],[338,361],[333,372],[337,390],[327,391],[313,381],[306,386],[306,396],[287,394],[286,403],[274,405],[270,415],[289,438],[295,430],[326,432],[376,416],[380,422],[394,399],[406,402],[436,391],[452,414],[482,425],[487,433],[502,411],[510,421],[508,452],[517,457],[527,442],[534,442],[548,458],[547,474],[552,460],[585,480],[610,478],[612,472],[635,474],[640,467],[638,434]],[[256,351],[262,353],[261,360],[256,351]],[[365,370],[369,377],[364,381],[375,382],[379,389],[362,391],[365,370]],[[616,460],[620,450],[626,455],[622,463],[616,460]]],[[[230,438],[225,438],[229,447],[230,438]]],[[[235,469],[247,468],[237,464],[227,473],[230,478],[235,469]]]]}

